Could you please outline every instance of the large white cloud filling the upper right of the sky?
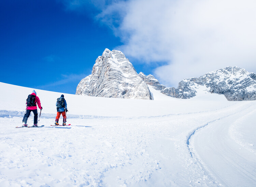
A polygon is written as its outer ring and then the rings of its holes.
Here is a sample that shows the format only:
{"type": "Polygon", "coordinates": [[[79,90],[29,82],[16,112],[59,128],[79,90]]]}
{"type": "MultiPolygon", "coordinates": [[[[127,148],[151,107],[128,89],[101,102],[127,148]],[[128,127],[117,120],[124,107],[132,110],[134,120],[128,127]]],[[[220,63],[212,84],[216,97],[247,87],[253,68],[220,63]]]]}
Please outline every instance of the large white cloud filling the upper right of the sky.
{"type": "Polygon", "coordinates": [[[154,75],[177,86],[226,66],[256,72],[256,1],[128,0],[105,4],[96,17],[124,43],[126,56],[158,62],[154,75]],[[167,64],[167,65],[166,65],[167,64]]]}

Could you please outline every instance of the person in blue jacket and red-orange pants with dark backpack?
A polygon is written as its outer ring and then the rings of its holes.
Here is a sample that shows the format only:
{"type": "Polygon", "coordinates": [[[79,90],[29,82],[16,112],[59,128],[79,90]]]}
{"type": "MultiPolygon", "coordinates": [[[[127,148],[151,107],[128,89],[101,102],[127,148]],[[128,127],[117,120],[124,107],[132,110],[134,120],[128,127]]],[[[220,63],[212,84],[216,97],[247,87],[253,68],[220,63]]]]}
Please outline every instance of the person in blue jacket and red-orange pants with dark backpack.
{"type": "Polygon", "coordinates": [[[57,116],[55,119],[55,125],[59,125],[60,115],[63,116],[62,125],[66,125],[66,121],[67,121],[66,112],[68,112],[68,109],[67,109],[67,102],[64,99],[63,94],[60,96],[60,98],[57,99],[56,106],[57,106],[57,116]]]}

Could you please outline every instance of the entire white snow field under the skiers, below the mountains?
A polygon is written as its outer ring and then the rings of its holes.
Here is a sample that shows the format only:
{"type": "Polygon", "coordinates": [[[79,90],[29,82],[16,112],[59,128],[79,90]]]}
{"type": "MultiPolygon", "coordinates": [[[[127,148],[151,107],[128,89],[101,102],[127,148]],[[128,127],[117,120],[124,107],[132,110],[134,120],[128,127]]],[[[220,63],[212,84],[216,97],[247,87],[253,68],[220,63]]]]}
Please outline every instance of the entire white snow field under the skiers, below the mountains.
{"type": "Polygon", "coordinates": [[[36,90],[45,126],[17,129],[33,89],[0,83],[0,186],[256,186],[256,101],[149,87],[154,100],[64,94],[70,126],[50,126],[62,93],[36,90]]]}

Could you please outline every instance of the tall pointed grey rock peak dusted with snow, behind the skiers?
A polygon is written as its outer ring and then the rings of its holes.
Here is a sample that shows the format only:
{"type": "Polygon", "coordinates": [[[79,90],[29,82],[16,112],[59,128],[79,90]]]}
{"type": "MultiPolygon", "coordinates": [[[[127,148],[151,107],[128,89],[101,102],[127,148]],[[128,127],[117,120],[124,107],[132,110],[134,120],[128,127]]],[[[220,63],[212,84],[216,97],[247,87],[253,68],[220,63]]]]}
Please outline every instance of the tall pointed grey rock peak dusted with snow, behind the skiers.
{"type": "Polygon", "coordinates": [[[91,74],[80,81],[76,95],[152,100],[147,84],[125,55],[109,49],[97,58],[91,74]]]}

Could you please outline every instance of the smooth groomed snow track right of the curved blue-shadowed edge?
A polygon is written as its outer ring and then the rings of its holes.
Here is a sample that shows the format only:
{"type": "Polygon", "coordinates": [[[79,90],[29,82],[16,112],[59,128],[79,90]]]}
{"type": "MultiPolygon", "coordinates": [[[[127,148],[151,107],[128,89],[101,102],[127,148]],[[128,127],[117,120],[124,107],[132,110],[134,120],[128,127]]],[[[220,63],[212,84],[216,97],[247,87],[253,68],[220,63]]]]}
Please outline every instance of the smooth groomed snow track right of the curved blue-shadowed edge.
{"type": "MultiPolygon", "coordinates": [[[[191,157],[195,158],[195,162],[202,170],[206,170],[208,175],[214,175],[215,179],[224,186],[256,186],[256,151],[251,149],[252,144],[243,141],[244,137],[238,138],[234,135],[237,133],[234,130],[234,124],[240,121],[241,125],[241,119],[244,120],[243,124],[246,124],[244,122],[251,118],[245,118],[245,116],[252,114],[255,116],[255,111],[255,103],[245,105],[243,108],[236,109],[234,113],[199,127],[187,140],[188,149],[191,157]],[[217,128],[214,128],[216,126],[217,128]],[[248,145],[251,146],[249,149],[248,145]],[[240,151],[243,148],[247,148],[249,152],[240,151]]],[[[253,130],[253,134],[256,132],[256,128],[248,130],[253,130]]],[[[255,142],[255,137],[249,141],[255,142]]]]}

